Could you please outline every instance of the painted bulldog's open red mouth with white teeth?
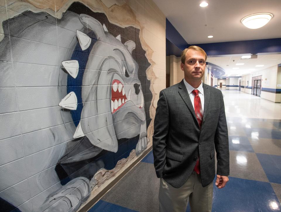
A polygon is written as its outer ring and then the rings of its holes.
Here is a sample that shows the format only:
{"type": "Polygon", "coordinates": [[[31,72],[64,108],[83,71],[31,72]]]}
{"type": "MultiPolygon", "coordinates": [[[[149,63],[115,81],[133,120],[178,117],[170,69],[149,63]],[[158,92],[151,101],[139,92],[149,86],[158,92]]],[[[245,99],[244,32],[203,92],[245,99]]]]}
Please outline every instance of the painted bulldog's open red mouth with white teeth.
{"type": "Polygon", "coordinates": [[[127,101],[123,84],[119,80],[113,80],[111,84],[111,113],[115,113],[127,101]]]}

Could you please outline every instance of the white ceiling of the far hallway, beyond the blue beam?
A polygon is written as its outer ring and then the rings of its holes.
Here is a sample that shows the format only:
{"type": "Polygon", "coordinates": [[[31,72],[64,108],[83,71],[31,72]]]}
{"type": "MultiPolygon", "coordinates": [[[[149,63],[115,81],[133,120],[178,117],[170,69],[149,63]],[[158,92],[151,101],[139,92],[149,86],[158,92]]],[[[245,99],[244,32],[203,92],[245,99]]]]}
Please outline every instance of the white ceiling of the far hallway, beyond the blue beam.
{"type": "Polygon", "coordinates": [[[251,74],[281,63],[281,54],[258,54],[258,58],[256,59],[241,59],[241,56],[243,56],[243,54],[229,55],[223,57],[208,57],[207,62],[213,63],[223,68],[225,70],[225,75],[221,76],[227,77],[236,77],[251,74]],[[236,65],[236,63],[244,63],[244,65],[238,66],[236,65]],[[256,65],[264,66],[256,67],[256,65]]]}

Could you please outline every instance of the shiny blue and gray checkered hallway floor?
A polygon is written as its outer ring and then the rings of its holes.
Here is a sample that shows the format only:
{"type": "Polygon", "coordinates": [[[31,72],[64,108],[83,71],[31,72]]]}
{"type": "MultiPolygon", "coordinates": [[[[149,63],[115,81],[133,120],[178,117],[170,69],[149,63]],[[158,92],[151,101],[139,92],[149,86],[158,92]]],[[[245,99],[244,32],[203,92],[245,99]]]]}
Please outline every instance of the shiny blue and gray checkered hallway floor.
{"type": "MultiPolygon", "coordinates": [[[[230,175],[225,188],[214,185],[212,211],[281,211],[281,104],[237,90],[222,92],[230,175]]],[[[158,211],[158,189],[150,151],[89,211],[158,211]]]]}

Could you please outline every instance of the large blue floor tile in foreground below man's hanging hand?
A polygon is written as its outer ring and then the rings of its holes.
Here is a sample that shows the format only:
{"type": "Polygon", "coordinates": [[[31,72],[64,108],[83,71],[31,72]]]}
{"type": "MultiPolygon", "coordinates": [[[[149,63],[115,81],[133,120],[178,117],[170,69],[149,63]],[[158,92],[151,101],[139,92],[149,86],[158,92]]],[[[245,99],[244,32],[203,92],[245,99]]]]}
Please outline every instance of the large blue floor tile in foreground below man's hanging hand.
{"type": "MultiPolygon", "coordinates": [[[[213,207],[216,212],[237,211],[280,211],[281,205],[270,183],[229,177],[223,189],[213,182],[213,207]]],[[[189,205],[186,209],[190,211],[189,205]]]]}

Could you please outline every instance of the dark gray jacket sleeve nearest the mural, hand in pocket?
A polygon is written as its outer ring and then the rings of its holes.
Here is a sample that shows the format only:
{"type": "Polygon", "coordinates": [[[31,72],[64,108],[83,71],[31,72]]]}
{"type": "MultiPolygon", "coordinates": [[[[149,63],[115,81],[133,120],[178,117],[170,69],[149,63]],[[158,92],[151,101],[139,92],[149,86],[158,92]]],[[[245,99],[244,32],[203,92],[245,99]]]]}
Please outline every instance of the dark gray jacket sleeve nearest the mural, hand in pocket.
{"type": "Polygon", "coordinates": [[[166,140],[169,133],[169,108],[163,91],[160,92],[154,119],[153,156],[158,178],[163,176],[166,163],[166,140]]]}

